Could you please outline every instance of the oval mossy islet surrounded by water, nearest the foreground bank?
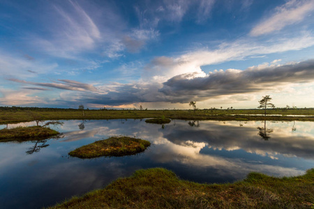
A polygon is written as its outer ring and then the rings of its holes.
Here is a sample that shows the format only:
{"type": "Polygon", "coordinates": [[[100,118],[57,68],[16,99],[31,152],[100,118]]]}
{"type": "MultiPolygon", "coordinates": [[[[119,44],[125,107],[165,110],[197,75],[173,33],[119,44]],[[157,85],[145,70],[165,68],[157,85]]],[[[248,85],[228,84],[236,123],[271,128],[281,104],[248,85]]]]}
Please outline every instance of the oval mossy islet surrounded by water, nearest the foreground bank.
{"type": "Polygon", "coordinates": [[[149,141],[142,139],[110,137],[109,139],[95,141],[92,144],[77,148],[68,154],[80,158],[135,155],[143,152],[150,145],[149,141]]]}

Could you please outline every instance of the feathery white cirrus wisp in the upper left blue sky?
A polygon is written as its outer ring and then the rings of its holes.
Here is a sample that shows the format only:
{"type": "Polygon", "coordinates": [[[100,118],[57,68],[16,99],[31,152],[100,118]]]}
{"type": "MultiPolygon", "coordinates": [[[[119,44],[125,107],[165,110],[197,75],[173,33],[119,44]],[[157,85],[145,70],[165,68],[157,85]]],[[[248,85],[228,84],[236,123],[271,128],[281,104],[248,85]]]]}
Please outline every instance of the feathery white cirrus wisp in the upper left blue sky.
{"type": "Polygon", "coordinates": [[[54,5],[50,20],[50,36],[33,35],[33,44],[54,56],[73,58],[73,54],[93,49],[100,41],[101,33],[87,12],[73,1],[70,6],[54,5]]]}

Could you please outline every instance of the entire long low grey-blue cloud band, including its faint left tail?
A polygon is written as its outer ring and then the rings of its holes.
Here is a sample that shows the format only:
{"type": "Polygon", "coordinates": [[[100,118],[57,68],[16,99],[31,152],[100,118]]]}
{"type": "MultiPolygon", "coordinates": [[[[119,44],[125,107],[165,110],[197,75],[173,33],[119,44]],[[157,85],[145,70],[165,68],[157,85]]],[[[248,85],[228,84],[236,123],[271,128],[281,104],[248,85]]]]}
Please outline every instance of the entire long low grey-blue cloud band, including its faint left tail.
{"type": "MultiPolygon", "coordinates": [[[[165,61],[167,64],[167,61],[165,61]]],[[[181,102],[202,101],[230,95],[230,99],[249,101],[250,93],[275,89],[291,83],[314,81],[314,60],[290,65],[258,65],[246,70],[220,70],[205,77],[177,75],[163,84],[159,82],[137,82],[137,84],[112,84],[98,86],[99,91],[80,91],[73,102],[119,106],[141,102],[181,102]],[[244,93],[246,95],[239,95],[244,93]]],[[[71,96],[65,98],[70,100],[71,96]]]]}

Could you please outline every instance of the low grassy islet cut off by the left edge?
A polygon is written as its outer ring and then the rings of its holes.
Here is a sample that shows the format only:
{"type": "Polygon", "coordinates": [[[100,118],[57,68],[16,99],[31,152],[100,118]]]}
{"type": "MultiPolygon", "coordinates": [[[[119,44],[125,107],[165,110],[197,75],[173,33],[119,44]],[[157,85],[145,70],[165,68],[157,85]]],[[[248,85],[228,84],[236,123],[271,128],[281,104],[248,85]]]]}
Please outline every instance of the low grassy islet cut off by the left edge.
{"type": "Polygon", "coordinates": [[[30,126],[30,127],[15,127],[12,129],[0,130],[0,141],[8,139],[35,139],[43,137],[52,137],[59,132],[50,129],[49,127],[30,126]]]}

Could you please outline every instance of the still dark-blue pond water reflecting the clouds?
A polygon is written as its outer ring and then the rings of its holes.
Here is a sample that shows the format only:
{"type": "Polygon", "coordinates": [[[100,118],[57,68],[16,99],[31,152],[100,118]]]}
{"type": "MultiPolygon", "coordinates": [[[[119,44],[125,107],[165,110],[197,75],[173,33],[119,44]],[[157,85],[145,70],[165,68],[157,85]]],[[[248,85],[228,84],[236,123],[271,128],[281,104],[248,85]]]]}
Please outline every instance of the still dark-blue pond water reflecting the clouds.
{"type": "MultiPolygon", "coordinates": [[[[103,188],[137,169],[163,167],[198,183],[232,183],[251,171],[297,176],[314,168],[314,123],[278,121],[62,121],[63,135],[0,143],[0,208],[42,208],[103,188]],[[68,152],[124,135],[151,141],[138,155],[82,160],[68,152]]],[[[34,125],[25,123],[17,125],[34,125]]],[[[8,125],[8,128],[17,125],[8,125]]],[[[6,125],[0,125],[0,129],[6,125]]]]}

